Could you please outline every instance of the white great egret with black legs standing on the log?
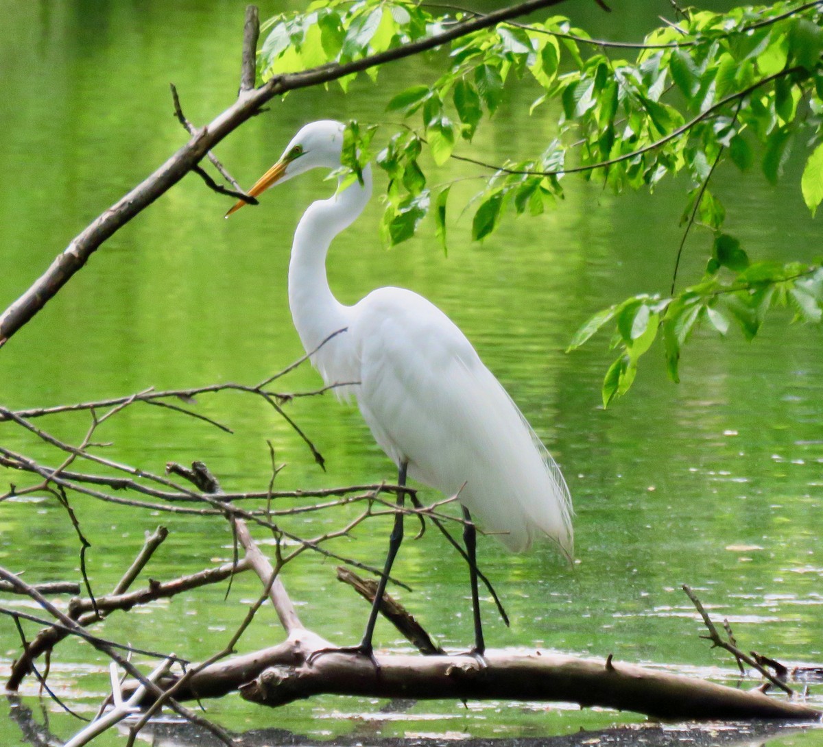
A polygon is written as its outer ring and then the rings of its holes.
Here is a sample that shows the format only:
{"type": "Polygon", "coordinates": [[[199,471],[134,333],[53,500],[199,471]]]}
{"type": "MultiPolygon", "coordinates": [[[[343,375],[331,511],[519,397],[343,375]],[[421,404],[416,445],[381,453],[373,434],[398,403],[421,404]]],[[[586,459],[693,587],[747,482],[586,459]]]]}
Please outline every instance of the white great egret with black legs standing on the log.
{"type": "MultiPolygon", "coordinates": [[[[249,194],[309,169],[338,169],[343,125],[307,124],[249,194]]],[[[482,364],[472,344],[435,305],[411,290],[379,288],[354,306],[328,287],[326,254],[332,239],[360,216],[371,197],[371,169],[363,182],[338,189],[309,206],[295,230],[289,264],[289,306],[300,341],[327,384],[356,398],[375,440],[407,476],[458,494],[466,542],[475,627],[473,652],[485,643],[477,599],[472,514],[509,550],[527,550],[546,536],[572,552],[571,499],[554,460],[504,388],[482,364]],[[321,343],[337,330],[346,332],[321,343]],[[471,512],[471,513],[469,513],[471,512]]],[[[226,217],[238,210],[238,202],[226,217]]],[[[398,495],[402,508],[403,495],[398,495]]],[[[383,576],[360,646],[373,658],[372,634],[379,600],[402,541],[402,512],[395,513],[383,576]]]]}

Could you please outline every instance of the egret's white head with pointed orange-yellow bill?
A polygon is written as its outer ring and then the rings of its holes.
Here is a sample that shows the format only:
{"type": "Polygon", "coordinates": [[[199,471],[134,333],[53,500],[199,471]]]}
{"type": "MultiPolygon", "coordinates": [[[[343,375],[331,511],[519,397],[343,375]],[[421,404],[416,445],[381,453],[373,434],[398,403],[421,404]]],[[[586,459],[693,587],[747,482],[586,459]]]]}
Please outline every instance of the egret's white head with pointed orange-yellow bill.
{"type": "MultiPolygon", "coordinates": [[[[305,125],[291,139],[277,163],[249,189],[249,195],[257,197],[273,184],[285,182],[309,169],[337,169],[340,165],[344,129],[342,123],[333,119],[321,119],[305,125]]],[[[226,218],[245,204],[243,200],[239,200],[226,213],[226,218]]]]}

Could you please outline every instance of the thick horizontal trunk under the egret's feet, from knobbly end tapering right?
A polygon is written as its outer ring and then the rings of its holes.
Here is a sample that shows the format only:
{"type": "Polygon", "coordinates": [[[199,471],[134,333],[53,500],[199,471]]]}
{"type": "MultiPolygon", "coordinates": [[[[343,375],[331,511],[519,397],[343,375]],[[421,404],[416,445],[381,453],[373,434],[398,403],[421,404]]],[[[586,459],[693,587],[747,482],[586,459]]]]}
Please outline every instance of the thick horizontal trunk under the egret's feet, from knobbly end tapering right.
{"type": "Polygon", "coordinates": [[[506,699],[579,703],[635,711],[667,720],[752,718],[819,721],[823,713],[802,703],[721,684],[644,669],[542,652],[513,656],[379,656],[328,653],[311,666],[272,666],[242,685],[246,700],[272,707],[317,694],[370,698],[506,699]]]}

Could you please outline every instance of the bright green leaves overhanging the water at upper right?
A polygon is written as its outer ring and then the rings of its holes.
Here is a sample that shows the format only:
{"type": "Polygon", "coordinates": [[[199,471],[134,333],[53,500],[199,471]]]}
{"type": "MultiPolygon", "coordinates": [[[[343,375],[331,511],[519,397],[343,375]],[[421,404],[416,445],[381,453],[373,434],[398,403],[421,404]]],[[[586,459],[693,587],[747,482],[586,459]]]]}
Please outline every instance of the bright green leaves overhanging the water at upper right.
{"type": "MultiPolygon", "coordinates": [[[[412,0],[332,0],[277,16],[267,24],[260,52],[263,79],[345,65],[473,17],[445,8],[412,0]]],[[[704,278],[677,295],[626,299],[596,314],[571,342],[573,349],[599,328],[615,327],[618,357],[604,381],[607,404],[629,389],[639,358],[657,336],[677,381],[681,348],[696,327],[724,335],[733,320],[751,338],[774,306],[820,321],[819,269],[752,261],[724,230],[726,208],[709,183],[717,169],[758,168],[778,184],[791,151],[807,149],[802,196],[812,215],[823,201],[821,13],[820,3],[798,2],[728,13],[690,10],[653,30],[637,49],[590,39],[562,16],[477,30],[455,39],[448,58],[437,58],[438,75],[388,100],[388,112],[402,118],[402,126],[381,126],[375,134],[351,123],[344,169],[359,179],[373,137],[382,140],[377,163],[388,175],[385,243],[410,238],[431,214],[445,250],[449,186],[441,178],[430,193],[426,169],[458,155],[507,105],[506,90],[528,83],[538,91],[532,116],[545,118],[552,135],[542,152],[488,165],[469,202],[472,239],[488,239],[508,215],[537,216],[551,208],[571,173],[615,193],[686,174],[685,230],[709,230],[704,278]]],[[[366,73],[374,79],[379,67],[366,73]]],[[[346,90],[353,77],[339,85],[346,90]]]]}

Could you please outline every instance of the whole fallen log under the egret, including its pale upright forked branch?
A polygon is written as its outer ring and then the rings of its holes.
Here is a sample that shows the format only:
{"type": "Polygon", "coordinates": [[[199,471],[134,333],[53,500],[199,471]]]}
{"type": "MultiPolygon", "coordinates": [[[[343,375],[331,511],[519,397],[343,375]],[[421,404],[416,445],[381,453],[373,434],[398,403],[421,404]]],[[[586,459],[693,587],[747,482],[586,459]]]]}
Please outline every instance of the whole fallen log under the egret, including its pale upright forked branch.
{"type": "MultiPolygon", "coordinates": [[[[580,659],[539,650],[526,654],[487,651],[482,660],[467,655],[379,654],[374,666],[365,657],[329,651],[333,644],[306,629],[281,579],[242,520],[237,520],[236,530],[247,562],[270,590],[286,640],[257,652],[193,667],[179,685],[178,675],[160,680],[161,689],[174,687],[174,698],[178,701],[219,698],[239,692],[249,702],[277,708],[300,698],[335,694],[578,703],[581,708],[616,708],[668,721],[823,719],[823,712],[815,708],[790,698],[766,695],[760,689],[745,691],[631,664],[616,664],[611,656],[606,660],[580,659]]],[[[389,618],[396,624],[398,618],[407,617],[396,601],[385,602],[391,602],[398,613],[389,618]]],[[[400,627],[404,631],[408,628],[405,623],[400,627]]],[[[416,636],[412,638],[416,640],[416,636]]],[[[136,686],[124,684],[123,694],[131,694],[136,686]]],[[[142,705],[151,699],[151,695],[147,696],[142,705]]]]}

